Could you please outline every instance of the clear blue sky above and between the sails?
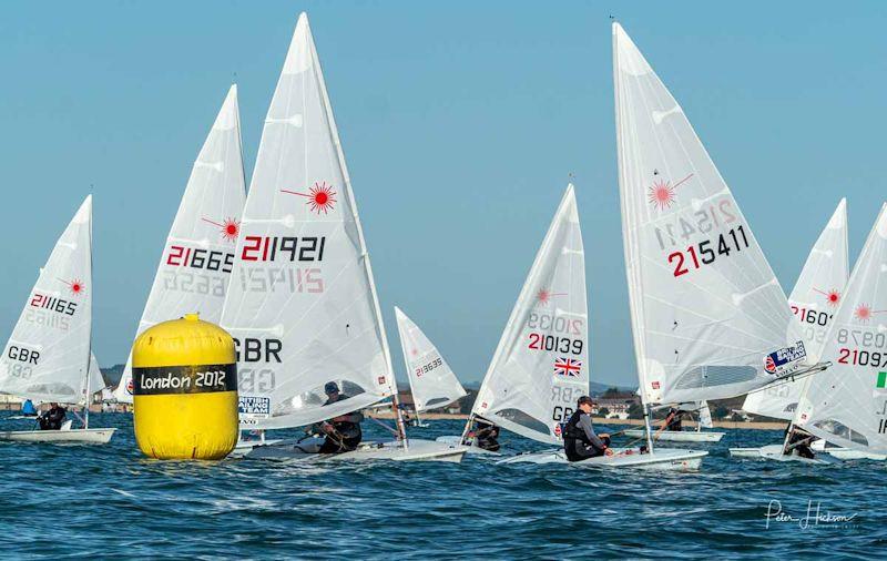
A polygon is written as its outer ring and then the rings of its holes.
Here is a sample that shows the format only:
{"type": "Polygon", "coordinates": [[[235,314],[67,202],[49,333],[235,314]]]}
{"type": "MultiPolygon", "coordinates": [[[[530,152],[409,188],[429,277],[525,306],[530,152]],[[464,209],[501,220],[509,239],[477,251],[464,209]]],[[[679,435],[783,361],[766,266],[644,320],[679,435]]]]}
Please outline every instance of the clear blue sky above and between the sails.
{"type": "Polygon", "coordinates": [[[466,381],[486,371],[574,174],[592,379],[634,384],[609,16],[682,104],[791,290],[840,196],[855,258],[884,201],[883,2],[8,3],[0,19],[0,337],[94,193],[94,349],[125,360],[232,81],[251,173],[307,11],[395,368],[395,304],[466,381]]]}

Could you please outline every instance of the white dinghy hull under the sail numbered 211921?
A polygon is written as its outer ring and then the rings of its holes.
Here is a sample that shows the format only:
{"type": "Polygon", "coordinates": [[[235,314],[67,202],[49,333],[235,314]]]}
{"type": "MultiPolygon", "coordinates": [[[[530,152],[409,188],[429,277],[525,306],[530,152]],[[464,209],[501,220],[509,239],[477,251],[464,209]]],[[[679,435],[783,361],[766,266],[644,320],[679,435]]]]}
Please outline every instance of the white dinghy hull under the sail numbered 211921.
{"type": "Polygon", "coordinates": [[[287,440],[274,445],[254,447],[246,458],[281,461],[442,461],[459,463],[468,451],[468,447],[453,446],[430,440],[410,439],[405,447],[399,441],[361,442],[357,450],[343,453],[317,453],[323,439],[313,438],[303,441],[287,440]]]}

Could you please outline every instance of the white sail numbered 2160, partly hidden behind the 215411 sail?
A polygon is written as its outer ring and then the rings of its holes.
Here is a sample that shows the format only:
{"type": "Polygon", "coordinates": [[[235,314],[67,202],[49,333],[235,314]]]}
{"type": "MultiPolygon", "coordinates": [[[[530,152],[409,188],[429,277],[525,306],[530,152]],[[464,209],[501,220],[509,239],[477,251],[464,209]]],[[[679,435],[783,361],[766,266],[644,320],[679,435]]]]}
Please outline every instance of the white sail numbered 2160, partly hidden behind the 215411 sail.
{"type": "MultiPolygon", "coordinates": [[[[828,325],[847,284],[847,202],[842,198],[810,251],[788,297],[801,322],[810,361],[818,360],[828,325]]],[[[792,420],[804,380],[777,381],[748,394],[742,408],[751,414],[792,420]]]]}

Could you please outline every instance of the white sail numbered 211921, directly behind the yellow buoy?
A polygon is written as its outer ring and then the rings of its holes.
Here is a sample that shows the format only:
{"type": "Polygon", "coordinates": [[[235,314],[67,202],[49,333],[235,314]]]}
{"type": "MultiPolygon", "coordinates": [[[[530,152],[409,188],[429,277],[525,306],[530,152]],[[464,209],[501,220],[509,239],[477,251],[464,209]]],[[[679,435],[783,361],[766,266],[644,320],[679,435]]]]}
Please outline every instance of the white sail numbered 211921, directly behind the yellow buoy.
{"type": "Polygon", "coordinates": [[[245,426],[308,425],[395,392],[376,288],[308,19],[265,119],[222,326],[245,426]],[[349,399],[324,407],[324,385],[349,399]]]}

